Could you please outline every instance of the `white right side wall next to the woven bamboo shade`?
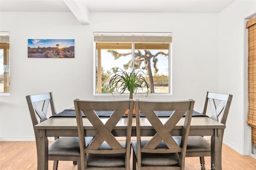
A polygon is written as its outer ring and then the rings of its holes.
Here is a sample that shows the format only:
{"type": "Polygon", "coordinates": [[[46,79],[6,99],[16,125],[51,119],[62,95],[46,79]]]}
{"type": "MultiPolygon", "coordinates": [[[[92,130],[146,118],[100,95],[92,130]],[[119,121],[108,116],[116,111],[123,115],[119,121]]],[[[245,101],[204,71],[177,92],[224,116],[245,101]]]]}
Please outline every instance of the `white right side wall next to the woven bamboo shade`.
{"type": "Polygon", "coordinates": [[[244,68],[247,60],[244,53],[248,51],[244,48],[244,43],[247,43],[245,18],[255,12],[255,0],[238,0],[218,14],[218,92],[233,95],[224,143],[241,154],[249,154],[250,146],[250,132],[246,124],[248,92],[244,90],[248,82],[244,78],[247,70],[244,68]]]}

